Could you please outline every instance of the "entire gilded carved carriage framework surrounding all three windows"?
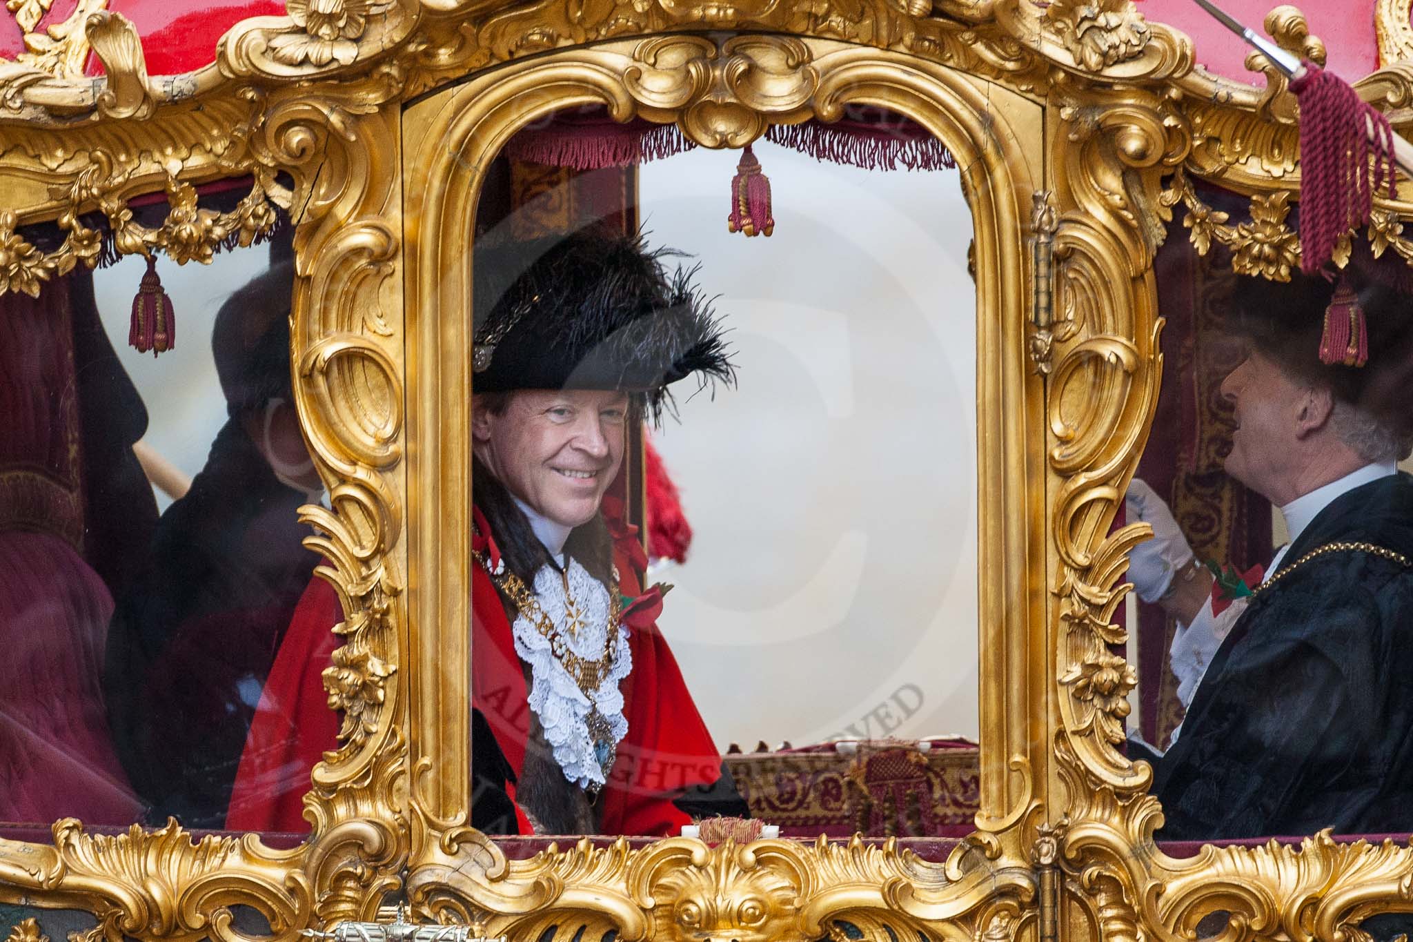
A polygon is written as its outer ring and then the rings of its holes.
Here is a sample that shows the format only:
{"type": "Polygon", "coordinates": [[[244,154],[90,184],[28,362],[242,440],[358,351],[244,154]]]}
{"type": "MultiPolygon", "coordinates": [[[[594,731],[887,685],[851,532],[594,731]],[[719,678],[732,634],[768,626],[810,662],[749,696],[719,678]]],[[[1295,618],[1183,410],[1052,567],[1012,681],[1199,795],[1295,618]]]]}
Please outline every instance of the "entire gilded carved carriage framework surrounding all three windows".
{"type": "MultiPolygon", "coordinates": [[[[61,54],[0,64],[0,127],[10,137],[0,151],[0,280],[27,290],[92,256],[81,232],[47,254],[23,242],[18,225],[72,222],[90,209],[122,217],[143,192],[167,188],[172,215],[158,229],[127,230],[124,251],[195,257],[216,222],[227,233],[257,226],[264,199],[290,209],[297,400],[333,496],[332,511],[311,507],[307,520],[345,604],[333,696],[352,722],[314,773],[315,832],[305,846],[277,852],[253,836],[192,843],[175,826],[103,837],[65,821],[52,845],[0,842],[0,901],[89,910],[99,917],[90,935],[113,942],[235,938],[236,904],[290,936],[372,919],[384,894],[401,888],[417,917],[465,921],[480,934],[519,938],[560,912],[632,938],[681,936],[673,901],[702,880],[757,887],[771,900],[773,932],[801,939],[842,932],[832,922],[841,918],[879,939],[899,929],[998,942],[1166,938],[1191,934],[1215,910],[1235,914],[1239,931],[1334,938],[1356,935],[1352,924],[1378,908],[1407,907],[1406,847],[1317,836],[1299,852],[1207,847],[1188,860],[1166,857],[1152,845],[1159,806],[1146,795],[1149,770],[1115,749],[1132,678],[1109,652],[1122,640],[1111,621],[1125,552],[1146,531],[1111,534],[1109,523],[1157,393],[1152,257],[1161,223],[1181,206],[1200,247],[1229,244],[1248,270],[1293,263],[1282,212],[1297,179],[1293,102],[1272,71],[1265,88],[1195,71],[1191,44],[1146,23],[1130,0],[606,0],[575,14],[544,0],[336,0],[332,20],[291,3],[288,17],[230,30],[212,66],[151,78],[136,31],[97,6],[81,4],[61,54]],[[78,72],[88,45],[103,59],[105,82],[78,72]],[[625,68],[634,55],[673,79],[667,92],[634,93],[625,68]],[[715,83],[694,86],[687,62],[715,83]],[[509,863],[462,826],[465,774],[452,758],[465,750],[465,717],[452,716],[455,684],[425,669],[430,643],[447,638],[422,626],[462,614],[463,597],[454,596],[465,556],[445,549],[463,548],[465,535],[447,534],[438,554],[427,534],[445,507],[413,497],[442,473],[455,484],[449,500],[461,501],[452,510],[465,511],[469,480],[449,453],[463,432],[427,390],[430,377],[465,387],[458,371],[466,364],[438,356],[438,343],[465,343],[466,325],[445,319],[428,329],[420,306],[438,263],[418,234],[430,232],[430,213],[452,213],[454,201],[438,206],[413,185],[408,129],[434,120],[418,116],[421,105],[404,107],[466,89],[483,90],[478,102],[489,106],[537,68],[558,69],[564,85],[530,92],[536,109],[599,100],[620,116],[677,120],[718,145],[749,141],[766,120],[828,117],[849,88],[886,89],[873,92],[883,103],[926,99],[923,86],[958,102],[993,90],[1015,105],[1009,114],[1031,107],[1039,116],[1026,186],[1013,186],[993,216],[996,268],[982,281],[992,278],[995,297],[979,299],[998,312],[979,321],[979,346],[1006,352],[981,397],[983,411],[1003,418],[1005,438],[991,465],[982,456],[981,473],[1006,482],[996,499],[1003,513],[985,524],[999,532],[983,535],[983,565],[995,572],[982,610],[1003,617],[983,614],[982,627],[983,813],[945,867],[892,849],[762,842],[706,852],[682,839],[509,863]],[[256,179],[243,217],[211,220],[191,205],[191,185],[235,175],[256,179]],[[1215,217],[1188,186],[1194,178],[1249,195],[1252,222],[1215,217]],[[452,435],[441,452],[427,448],[435,431],[452,435]]],[[[1413,97],[1413,72],[1399,64],[1413,28],[1406,4],[1402,21],[1399,11],[1383,0],[1389,68],[1356,86],[1389,109],[1413,97]]],[[[1282,45],[1318,55],[1296,11],[1273,14],[1266,28],[1282,45]]],[[[930,120],[959,154],[968,140],[985,140],[968,137],[955,113],[928,119],[916,102],[900,107],[930,120]]],[[[503,137],[510,121],[486,127],[503,137]]],[[[478,147],[493,153],[497,143],[478,147]]],[[[439,185],[475,172],[475,160],[431,160],[442,164],[425,179],[439,185]]],[[[1402,234],[1407,196],[1405,184],[1397,199],[1379,202],[1373,232],[1413,257],[1402,234]]],[[[981,226],[975,205],[974,215],[981,226]]],[[[463,284],[461,273],[438,287],[444,309],[463,284]]]]}

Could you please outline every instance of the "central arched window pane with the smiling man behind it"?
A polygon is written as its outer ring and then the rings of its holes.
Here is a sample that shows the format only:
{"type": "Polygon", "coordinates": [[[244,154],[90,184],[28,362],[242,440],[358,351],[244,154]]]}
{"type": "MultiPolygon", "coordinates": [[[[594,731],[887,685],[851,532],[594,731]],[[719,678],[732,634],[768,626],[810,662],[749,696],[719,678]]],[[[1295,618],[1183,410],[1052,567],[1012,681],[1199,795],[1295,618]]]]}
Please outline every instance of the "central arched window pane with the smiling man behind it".
{"type": "Polygon", "coordinates": [[[478,826],[968,833],[976,335],[955,168],[769,141],[629,168],[544,153],[507,148],[476,222],[478,826]],[[656,332],[622,314],[664,304],[656,332]],[[692,346],[708,335],[733,381],[692,346]]]}

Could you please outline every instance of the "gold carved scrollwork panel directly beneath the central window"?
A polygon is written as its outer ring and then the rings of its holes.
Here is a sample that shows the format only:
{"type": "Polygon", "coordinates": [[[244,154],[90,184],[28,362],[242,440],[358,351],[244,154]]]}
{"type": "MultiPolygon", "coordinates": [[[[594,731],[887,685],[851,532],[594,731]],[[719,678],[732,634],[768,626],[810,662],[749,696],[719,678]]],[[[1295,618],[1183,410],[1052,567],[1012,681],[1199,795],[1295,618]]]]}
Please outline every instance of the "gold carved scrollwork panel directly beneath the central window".
{"type": "Polygon", "coordinates": [[[992,869],[969,846],[945,864],[927,863],[892,839],[708,846],[673,837],[643,849],[584,839],[565,853],[506,860],[468,832],[435,857],[408,874],[414,907],[507,938],[543,939],[555,929],[554,938],[615,932],[632,942],[883,942],[931,938],[945,919],[976,938],[1010,939],[1034,898],[1029,867],[992,869]]]}

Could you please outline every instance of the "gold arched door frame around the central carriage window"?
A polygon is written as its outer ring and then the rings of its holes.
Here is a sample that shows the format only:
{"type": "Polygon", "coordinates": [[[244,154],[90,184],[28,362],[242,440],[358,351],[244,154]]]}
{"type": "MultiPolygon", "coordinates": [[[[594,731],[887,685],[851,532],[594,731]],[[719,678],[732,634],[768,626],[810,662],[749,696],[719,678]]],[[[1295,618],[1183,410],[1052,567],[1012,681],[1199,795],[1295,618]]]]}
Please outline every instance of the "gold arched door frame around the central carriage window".
{"type": "MultiPolygon", "coordinates": [[[[408,239],[410,377],[408,475],[420,493],[437,491],[418,508],[414,531],[420,585],[408,589],[415,623],[408,696],[427,710],[413,743],[411,802],[414,853],[407,878],[413,904],[431,918],[483,926],[490,935],[538,938],[558,926],[562,938],[598,938],[615,931],[644,938],[842,939],[862,932],[890,938],[941,935],[1007,941],[1031,917],[1033,874],[1023,850],[1024,828],[1039,813],[1044,758],[1023,723],[993,727],[1005,764],[981,781],[981,815],[988,830],[954,854],[947,867],[924,864],[896,846],[821,842],[757,842],[706,847],[671,839],[634,849],[626,842],[509,861],[490,840],[465,828],[468,730],[465,679],[463,521],[469,513],[469,448],[463,415],[447,401],[472,390],[463,356],[471,335],[463,298],[466,226],[479,177],[499,141],[557,105],[601,103],[620,119],[649,116],[678,121],[711,144],[749,141],[766,121],[839,116],[851,100],[886,100],[940,133],[968,167],[976,232],[978,322],[986,335],[979,367],[983,397],[1007,428],[982,458],[983,476],[1005,482],[988,494],[1000,518],[1003,500],[1030,500],[1019,417],[1039,414],[1040,381],[1024,369],[1024,333],[1002,315],[1029,316],[1024,213],[1040,158],[1040,110],[1005,89],[901,56],[839,42],[793,37],[667,35],[625,40],[524,59],[424,99],[404,114],[410,203],[421,208],[408,239]],[[537,96],[552,88],[557,97],[537,96]],[[959,107],[941,102],[955,96],[959,107]],[[1026,154],[1024,158],[1020,155],[1026,154]],[[992,169],[983,171],[985,167],[992,169]],[[1009,246],[1003,250],[1002,246],[1009,246]],[[991,312],[991,314],[986,314],[991,312]],[[1005,325],[1005,326],[1003,326],[1005,325]],[[415,390],[415,391],[414,391],[415,390]],[[1019,451],[1016,451],[1019,449],[1019,451]],[[456,482],[445,486],[445,482],[456,482]],[[442,482],[441,486],[434,482],[442,482]],[[431,669],[435,665],[435,669],[431,669]],[[437,730],[437,739],[431,730],[437,730]],[[435,749],[431,746],[435,744],[435,749]],[[988,888],[983,888],[988,887],[988,888]],[[982,904],[982,900],[988,902],[982,904]],[[903,935],[897,935],[901,932],[903,935]]],[[[996,571],[1016,575],[1027,564],[1023,539],[1012,531],[988,541],[996,571]]],[[[1017,586],[1020,583],[1016,583],[1017,586]]],[[[1009,595],[1009,593],[1007,593],[1009,595]]],[[[995,604],[998,627],[982,645],[1009,675],[1023,671],[1024,645],[1006,643],[1034,626],[1030,602],[1009,595],[995,604]]],[[[985,657],[985,655],[983,655],[985,657]]],[[[1003,688],[982,695],[983,712],[1000,717],[1003,688]]],[[[1019,720],[1019,716],[1015,716],[1019,720]]],[[[479,931],[479,929],[478,929],[479,931]]],[[[856,938],[856,936],[855,936],[856,938]]]]}

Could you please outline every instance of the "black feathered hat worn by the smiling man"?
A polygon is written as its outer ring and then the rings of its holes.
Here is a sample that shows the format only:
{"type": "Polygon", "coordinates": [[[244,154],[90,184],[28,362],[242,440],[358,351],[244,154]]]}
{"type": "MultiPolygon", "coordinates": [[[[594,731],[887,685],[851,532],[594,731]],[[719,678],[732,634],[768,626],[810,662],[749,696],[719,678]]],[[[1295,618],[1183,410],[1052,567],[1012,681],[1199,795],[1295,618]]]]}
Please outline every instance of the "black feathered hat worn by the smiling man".
{"type": "Polygon", "coordinates": [[[735,381],[719,318],[670,250],[585,229],[475,249],[478,393],[623,390],[657,421],[670,383],[735,381]]]}

